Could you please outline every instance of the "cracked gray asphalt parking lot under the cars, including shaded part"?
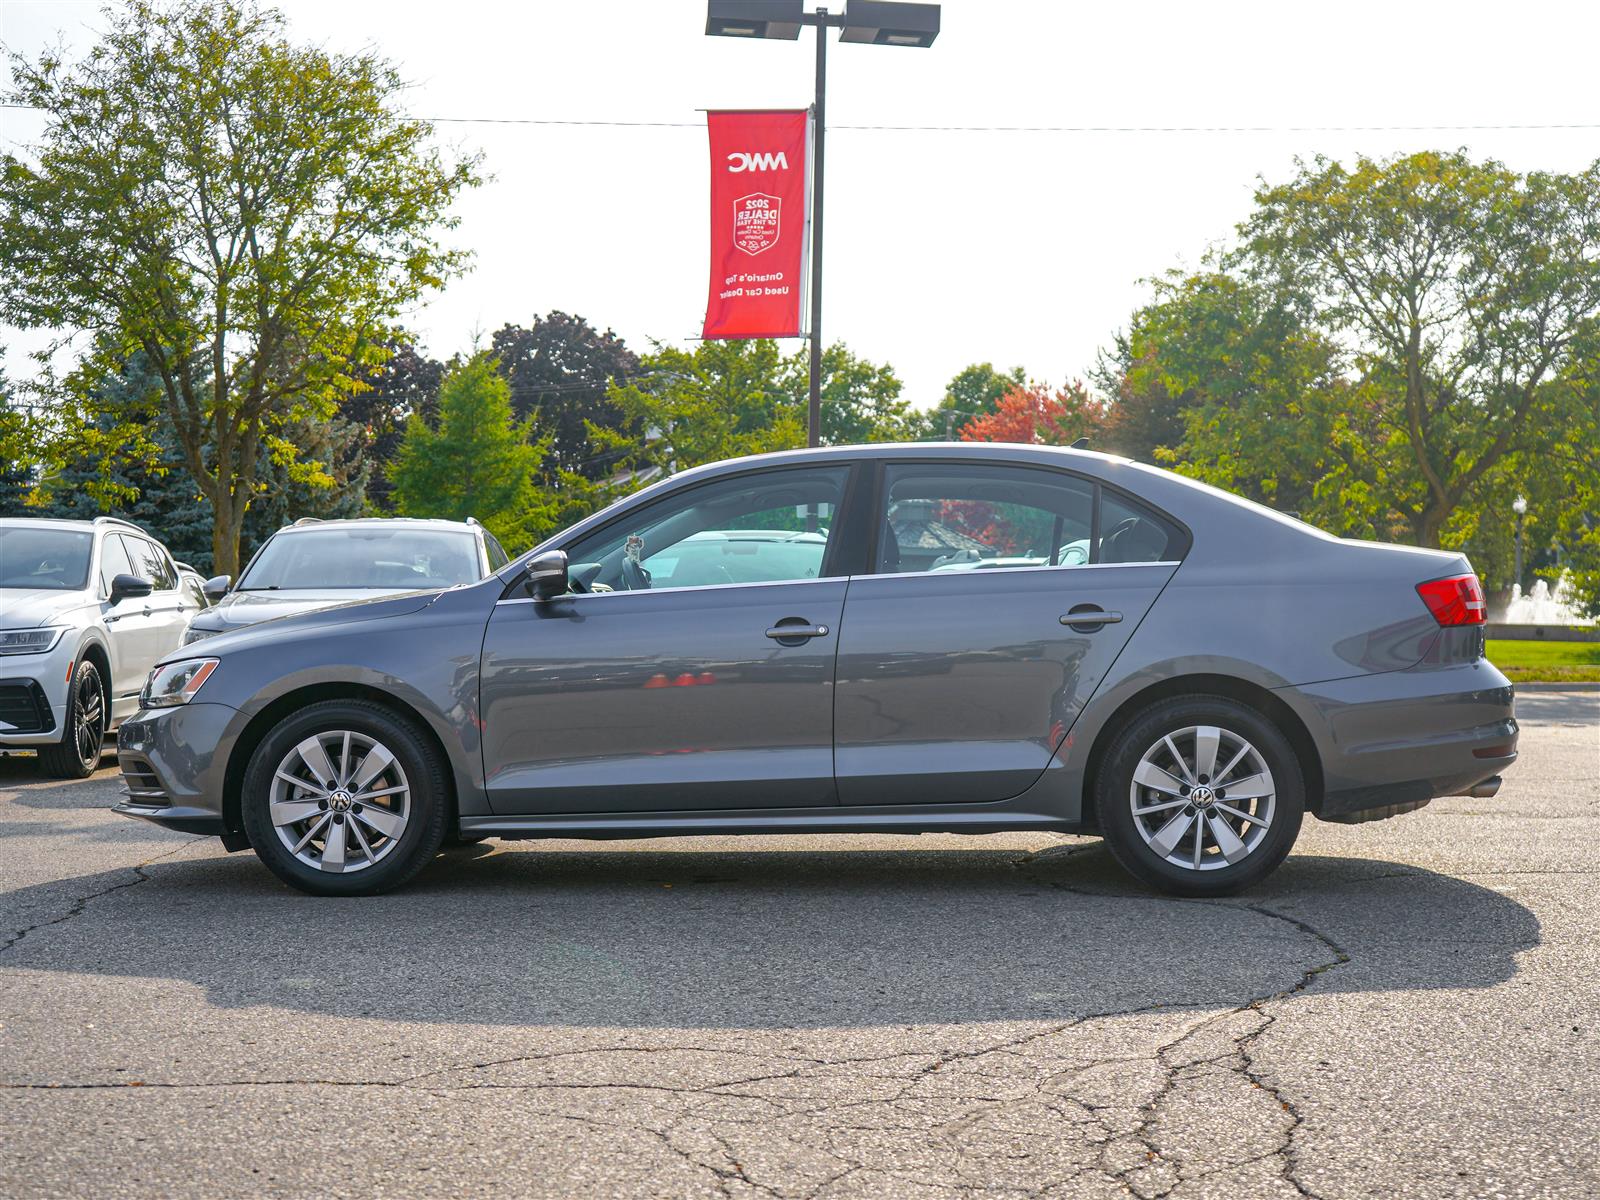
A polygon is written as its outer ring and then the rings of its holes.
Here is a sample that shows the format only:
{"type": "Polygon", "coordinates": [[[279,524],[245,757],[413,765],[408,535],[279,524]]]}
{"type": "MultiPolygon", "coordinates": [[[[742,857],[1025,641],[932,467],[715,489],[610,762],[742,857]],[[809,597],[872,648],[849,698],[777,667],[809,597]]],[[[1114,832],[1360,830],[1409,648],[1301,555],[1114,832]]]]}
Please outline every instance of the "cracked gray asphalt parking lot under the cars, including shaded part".
{"type": "Polygon", "coordinates": [[[488,843],[326,901],[0,760],[0,1194],[1590,1197],[1600,694],[1171,901],[1059,837],[488,843]]]}

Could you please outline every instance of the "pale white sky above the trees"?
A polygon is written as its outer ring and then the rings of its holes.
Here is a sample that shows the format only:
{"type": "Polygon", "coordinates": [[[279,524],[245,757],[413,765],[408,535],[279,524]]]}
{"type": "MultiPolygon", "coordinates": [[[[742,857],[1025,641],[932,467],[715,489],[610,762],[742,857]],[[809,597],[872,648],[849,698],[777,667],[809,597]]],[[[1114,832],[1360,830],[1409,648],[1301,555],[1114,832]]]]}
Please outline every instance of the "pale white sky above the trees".
{"type": "MultiPolygon", "coordinates": [[[[814,6],[808,0],[808,8],[814,6]]],[[[838,5],[835,3],[835,8],[838,5]]],[[[811,30],[704,35],[702,0],[283,0],[298,38],[373,46],[426,117],[685,122],[440,125],[491,176],[459,206],[474,270],[410,325],[435,357],[565,309],[635,349],[693,338],[706,304],[699,109],[805,107],[811,30]]],[[[0,0],[0,42],[85,46],[99,5],[0,0]]],[[[1578,170],[1600,128],[1594,3],[946,0],[931,50],[830,45],[822,330],[893,363],[918,405],[970,362],[1082,374],[1141,280],[1226,240],[1258,176],[1296,155],[1466,146],[1578,170]],[[848,125],[1274,126],[1272,133],[866,131],[848,125]]],[[[0,110],[8,149],[37,136],[0,110]]],[[[37,339],[0,331],[13,376],[37,339]]],[[[798,342],[790,342],[798,347],[798,342]]]]}

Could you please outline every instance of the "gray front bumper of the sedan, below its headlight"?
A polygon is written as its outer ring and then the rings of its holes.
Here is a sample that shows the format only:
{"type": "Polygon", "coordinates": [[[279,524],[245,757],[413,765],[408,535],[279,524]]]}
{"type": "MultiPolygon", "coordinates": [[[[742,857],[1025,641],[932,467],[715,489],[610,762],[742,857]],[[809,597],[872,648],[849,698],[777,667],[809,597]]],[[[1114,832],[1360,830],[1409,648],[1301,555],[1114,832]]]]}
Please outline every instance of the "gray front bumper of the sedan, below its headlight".
{"type": "Polygon", "coordinates": [[[182,834],[224,835],[227,749],[242,714],[227,704],[192,701],[139,709],[117,730],[123,795],[112,808],[182,834]]]}

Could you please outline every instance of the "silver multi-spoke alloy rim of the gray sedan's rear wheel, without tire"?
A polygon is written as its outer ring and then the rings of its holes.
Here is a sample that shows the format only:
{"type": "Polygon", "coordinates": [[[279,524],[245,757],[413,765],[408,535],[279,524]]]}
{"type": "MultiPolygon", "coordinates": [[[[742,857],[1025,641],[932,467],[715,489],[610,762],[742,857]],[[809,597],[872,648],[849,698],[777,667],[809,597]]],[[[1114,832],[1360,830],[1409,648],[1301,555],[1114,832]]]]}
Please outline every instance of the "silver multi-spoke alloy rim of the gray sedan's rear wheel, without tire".
{"type": "Polygon", "coordinates": [[[1166,862],[1221,870],[1254,853],[1272,829],[1267,760],[1216,725],[1165,734],[1139,758],[1128,789],[1133,827],[1166,862]]]}

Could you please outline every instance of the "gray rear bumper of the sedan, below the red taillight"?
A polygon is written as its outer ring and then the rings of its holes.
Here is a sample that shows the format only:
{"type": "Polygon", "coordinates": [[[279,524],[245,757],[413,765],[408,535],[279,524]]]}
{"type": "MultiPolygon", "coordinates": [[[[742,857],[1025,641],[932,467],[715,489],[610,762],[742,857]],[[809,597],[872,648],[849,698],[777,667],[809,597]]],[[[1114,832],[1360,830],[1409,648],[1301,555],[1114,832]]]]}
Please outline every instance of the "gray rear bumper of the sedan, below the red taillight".
{"type": "Polygon", "coordinates": [[[1395,816],[1517,762],[1514,688],[1488,661],[1282,688],[1322,752],[1325,821],[1395,816]]]}

